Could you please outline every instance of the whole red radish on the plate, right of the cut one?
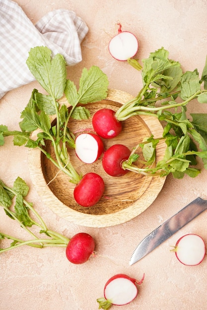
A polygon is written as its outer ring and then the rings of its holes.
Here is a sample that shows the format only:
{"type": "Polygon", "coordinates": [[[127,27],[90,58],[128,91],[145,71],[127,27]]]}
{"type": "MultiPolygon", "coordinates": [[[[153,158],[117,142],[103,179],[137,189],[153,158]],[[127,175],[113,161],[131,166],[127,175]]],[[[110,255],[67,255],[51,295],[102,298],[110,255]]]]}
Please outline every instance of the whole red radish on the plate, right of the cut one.
{"type": "Polygon", "coordinates": [[[129,172],[122,168],[122,162],[131,155],[130,149],[122,144],[114,144],[103,155],[102,165],[111,176],[122,176],[129,172]]]}

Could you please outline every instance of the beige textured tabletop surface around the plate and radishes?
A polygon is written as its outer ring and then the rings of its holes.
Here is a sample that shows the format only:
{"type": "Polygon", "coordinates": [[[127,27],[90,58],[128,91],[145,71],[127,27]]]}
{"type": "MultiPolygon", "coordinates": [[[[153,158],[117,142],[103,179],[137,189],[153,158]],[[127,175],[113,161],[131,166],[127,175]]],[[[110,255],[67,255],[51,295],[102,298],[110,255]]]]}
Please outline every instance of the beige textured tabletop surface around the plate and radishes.
{"type": "MultiPolygon", "coordinates": [[[[138,58],[148,57],[162,46],[184,70],[198,68],[200,74],[207,55],[206,0],[17,0],[33,23],[47,12],[66,8],[75,11],[89,27],[82,42],[83,60],[69,69],[69,78],[78,83],[82,68],[98,65],[109,78],[110,88],[137,95],[141,86],[139,73],[127,63],[114,60],[108,42],[120,21],[123,30],[132,31],[139,41],[138,58]]],[[[0,101],[0,123],[18,129],[20,112],[28,103],[33,82],[10,91],[0,101]]],[[[193,104],[189,112],[207,112],[206,104],[193,104]]],[[[123,310],[205,310],[207,309],[207,259],[195,267],[180,264],[170,245],[185,233],[198,233],[207,242],[207,213],[185,226],[151,254],[129,266],[138,242],[186,204],[201,196],[207,198],[207,171],[196,179],[175,180],[168,176],[154,203],[138,217],[108,228],[80,227],[60,218],[45,207],[29,175],[27,149],[14,147],[12,138],[0,148],[0,178],[11,185],[21,176],[31,186],[29,198],[51,229],[71,237],[83,231],[94,236],[100,255],[83,265],[72,265],[64,249],[30,247],[0,255],[1,310],[96,310],[96,299],[116,273],[128,273],[145,280],[138,298],[123,310]]],[[[21,235],[15,222],[0,209],[0,230],[21,235]]],[[[113,306],[113,309],[118,307],[113,306]]]]}

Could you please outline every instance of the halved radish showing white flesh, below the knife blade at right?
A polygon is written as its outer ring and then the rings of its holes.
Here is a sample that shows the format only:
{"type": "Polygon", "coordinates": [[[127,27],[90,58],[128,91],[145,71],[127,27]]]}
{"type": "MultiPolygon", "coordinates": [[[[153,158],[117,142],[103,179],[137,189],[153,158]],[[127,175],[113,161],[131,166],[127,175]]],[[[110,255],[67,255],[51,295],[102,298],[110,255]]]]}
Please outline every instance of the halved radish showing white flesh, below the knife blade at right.
{"type": "Polygon", "coordinates": [[[187,266],[196,266],[202,262],[206,255],[206,246],[201,236],[187,234],[182,236],[172,250],[178,260],[187,266]]]}

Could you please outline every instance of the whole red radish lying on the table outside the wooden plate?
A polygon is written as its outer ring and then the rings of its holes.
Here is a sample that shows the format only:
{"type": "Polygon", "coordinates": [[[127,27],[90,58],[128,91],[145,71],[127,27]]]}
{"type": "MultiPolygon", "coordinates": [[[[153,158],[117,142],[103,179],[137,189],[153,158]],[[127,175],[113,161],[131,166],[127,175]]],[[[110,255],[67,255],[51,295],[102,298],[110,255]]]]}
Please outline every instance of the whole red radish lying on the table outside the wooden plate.
{"type": "Polygon", "coordinates": [[[93,238],[86,233],[74,235],[66,248],[66,257],[73,264],[82,264],[88,260],[95,248],[93,238]]]}

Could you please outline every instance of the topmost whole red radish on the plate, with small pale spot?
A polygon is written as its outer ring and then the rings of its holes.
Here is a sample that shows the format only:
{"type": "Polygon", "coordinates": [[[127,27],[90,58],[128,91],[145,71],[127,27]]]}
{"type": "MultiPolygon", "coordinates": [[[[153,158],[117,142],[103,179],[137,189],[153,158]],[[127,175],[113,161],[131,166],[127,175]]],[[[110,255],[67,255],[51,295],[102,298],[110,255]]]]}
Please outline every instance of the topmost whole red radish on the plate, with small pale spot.
{"type": "Polygon", "coordinates": [[[122,123],[115,117],[115,111],[108,108],[95,112],[92,125],[97,135],[105,139],[117,137],[122,131],[122,123]]]}

